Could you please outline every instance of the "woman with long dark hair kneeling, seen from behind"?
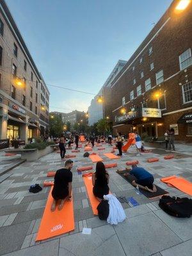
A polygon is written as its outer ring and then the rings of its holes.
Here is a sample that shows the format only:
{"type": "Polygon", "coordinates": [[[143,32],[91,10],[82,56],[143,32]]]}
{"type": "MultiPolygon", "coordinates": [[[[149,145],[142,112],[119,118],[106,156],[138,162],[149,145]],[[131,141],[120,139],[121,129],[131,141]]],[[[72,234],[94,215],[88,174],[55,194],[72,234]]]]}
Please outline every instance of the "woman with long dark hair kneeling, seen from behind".
{"type": "Polygon", "coordinates": [[[109,173],[106,171],[104,163],[97,162],[96,172],[92,174],[93,194],[101,202],[104,195],[109,194],[109,173]]]}

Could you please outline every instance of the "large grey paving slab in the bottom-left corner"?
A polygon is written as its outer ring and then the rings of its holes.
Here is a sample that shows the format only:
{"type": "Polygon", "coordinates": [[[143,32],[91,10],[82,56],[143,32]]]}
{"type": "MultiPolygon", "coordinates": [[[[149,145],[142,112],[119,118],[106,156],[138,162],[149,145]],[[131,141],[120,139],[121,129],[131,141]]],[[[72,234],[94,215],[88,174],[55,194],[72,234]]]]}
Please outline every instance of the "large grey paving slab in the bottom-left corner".
{"type": "Polygon", "coordinates": [[[20,250],[20,247],[22,246],[29,225],[30,222],[25,222],[22,223],[22,225],[17,224],[0,228],[1,255],[9,252],[15,253],[15,251],[20,250]]]}

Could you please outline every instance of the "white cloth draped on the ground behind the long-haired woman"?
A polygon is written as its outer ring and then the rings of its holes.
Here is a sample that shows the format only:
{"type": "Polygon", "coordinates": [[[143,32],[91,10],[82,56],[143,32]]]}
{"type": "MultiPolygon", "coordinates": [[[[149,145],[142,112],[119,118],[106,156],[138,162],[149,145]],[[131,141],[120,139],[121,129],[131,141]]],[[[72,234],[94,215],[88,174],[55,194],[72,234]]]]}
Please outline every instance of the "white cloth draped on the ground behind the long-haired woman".
{"type": "Polygon", "coordinates": [[[113,225],[117,225],[117,223],[122,222],[125,220],[125,212],[124,208],[118,201],[118,199],[113,195],[104,195],[105,200],[109,202],[109,216],[108,216],[108,223],[113,225]]]}

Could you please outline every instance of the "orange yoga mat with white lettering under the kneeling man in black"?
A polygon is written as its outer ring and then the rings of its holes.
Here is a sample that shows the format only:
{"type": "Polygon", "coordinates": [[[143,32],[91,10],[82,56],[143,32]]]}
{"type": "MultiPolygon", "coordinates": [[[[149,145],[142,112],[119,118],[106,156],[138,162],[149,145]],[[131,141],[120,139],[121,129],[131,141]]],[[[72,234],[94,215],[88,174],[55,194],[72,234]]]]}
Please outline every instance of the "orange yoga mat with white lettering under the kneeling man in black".
{"type": "Polygon", "coordinates": [[[75,229],[73,201],[66,201],[61,211],[59,211],[58,207],[56,207],[56,210],[51,212],[51,191],[52,188],[47,198],[44,215],[42,217],[35,241],[59,236],[75,229]]]}

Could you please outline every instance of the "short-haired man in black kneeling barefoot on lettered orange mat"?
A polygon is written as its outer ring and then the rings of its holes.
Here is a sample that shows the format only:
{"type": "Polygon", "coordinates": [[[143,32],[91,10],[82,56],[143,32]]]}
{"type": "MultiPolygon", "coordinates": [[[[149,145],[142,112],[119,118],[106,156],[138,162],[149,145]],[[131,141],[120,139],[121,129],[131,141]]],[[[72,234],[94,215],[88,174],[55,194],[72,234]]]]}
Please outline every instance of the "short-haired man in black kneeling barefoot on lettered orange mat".
{"type": "Polygon", "coordinates": [[[51,211],[56,209],[56,204],[59,203],[58,210],[63,208],[65,201],[71,201],[72,194],[72,172],[70,171],[73,166],[72,160],[65,162],[65,168],[56,171],[54,175],[54,186],[52,189],[52,205],[51,211]]]}

